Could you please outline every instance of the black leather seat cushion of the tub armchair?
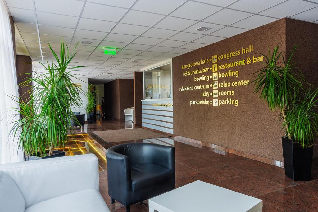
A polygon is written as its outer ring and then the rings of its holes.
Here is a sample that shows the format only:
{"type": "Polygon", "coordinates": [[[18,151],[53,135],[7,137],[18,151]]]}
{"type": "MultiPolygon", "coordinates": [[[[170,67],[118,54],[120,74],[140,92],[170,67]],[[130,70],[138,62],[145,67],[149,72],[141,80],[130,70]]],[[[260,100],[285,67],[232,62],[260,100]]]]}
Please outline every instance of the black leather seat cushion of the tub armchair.
{"type": "Polygon", "coordinates": [[[163,166],[146,163],[131,165],[131,189],[148,188],[174,177],[174,172],[163,166]]]}

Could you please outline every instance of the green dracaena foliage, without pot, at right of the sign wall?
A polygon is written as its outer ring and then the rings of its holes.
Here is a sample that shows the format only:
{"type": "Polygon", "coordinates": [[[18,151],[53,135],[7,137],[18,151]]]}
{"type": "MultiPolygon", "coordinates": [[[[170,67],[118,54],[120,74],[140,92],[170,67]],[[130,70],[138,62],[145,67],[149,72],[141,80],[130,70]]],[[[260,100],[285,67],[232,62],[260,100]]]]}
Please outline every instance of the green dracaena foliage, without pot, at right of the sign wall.
{"type": "Polygon", "coordinates": [[[288,59],[275,46],[264,56],[265,65],[255,72],[254,92],[266,101],[270,111],[280,110],[280,119],[286,135],[304,148],[318,132],[317,90],[309,85],[302,72],[292,63],[297,46],[288,59]],[[311,88],[308,88],[311,87],[311,88]]]}

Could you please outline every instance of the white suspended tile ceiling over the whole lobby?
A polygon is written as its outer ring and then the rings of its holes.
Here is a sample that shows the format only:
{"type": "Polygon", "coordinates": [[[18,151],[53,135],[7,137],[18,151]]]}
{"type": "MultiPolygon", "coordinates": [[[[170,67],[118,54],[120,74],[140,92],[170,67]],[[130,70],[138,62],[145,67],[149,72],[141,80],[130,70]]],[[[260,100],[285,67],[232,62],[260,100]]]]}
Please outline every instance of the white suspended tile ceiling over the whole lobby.
{"type": "Polygon", "coordinates": [[[318,23],[318,0],[5,1],[35,67],[54,61],[47,41],[58,52],[63,37],[71,50],[79,42],[71,65],[84,65],[76,73],[96,84],[132,79],[149,65],[283,17],[318,23]]]}

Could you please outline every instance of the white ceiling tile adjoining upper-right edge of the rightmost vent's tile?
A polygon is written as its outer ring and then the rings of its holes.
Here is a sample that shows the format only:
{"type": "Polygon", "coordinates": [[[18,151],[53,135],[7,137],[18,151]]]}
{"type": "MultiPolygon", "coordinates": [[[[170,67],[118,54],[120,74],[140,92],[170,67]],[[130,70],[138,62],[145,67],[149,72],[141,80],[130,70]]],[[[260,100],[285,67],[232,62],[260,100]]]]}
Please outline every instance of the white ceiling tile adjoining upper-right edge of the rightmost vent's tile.
{"type": "Polygon", "coordinates": [[[251,13],[225,8],[211,15],[210,17],[205,18],[203,21],[214,24],[230,25],[251,15],[251,13]]]}

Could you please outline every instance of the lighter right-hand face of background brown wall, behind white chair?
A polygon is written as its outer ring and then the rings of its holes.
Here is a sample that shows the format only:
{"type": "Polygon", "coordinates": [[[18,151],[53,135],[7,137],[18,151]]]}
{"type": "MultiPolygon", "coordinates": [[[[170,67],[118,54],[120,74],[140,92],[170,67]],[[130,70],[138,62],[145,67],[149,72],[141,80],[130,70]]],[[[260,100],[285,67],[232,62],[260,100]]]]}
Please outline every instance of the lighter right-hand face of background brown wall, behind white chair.
{"type": "Polygon", "coordinates": [[[134,107],[134,80],[119,79],[120,120],[125,120],[124,109],[134,107]]]}

